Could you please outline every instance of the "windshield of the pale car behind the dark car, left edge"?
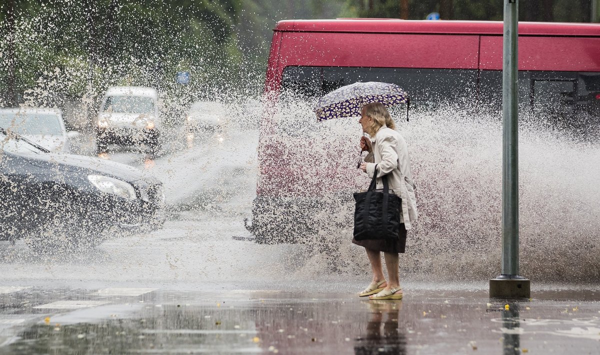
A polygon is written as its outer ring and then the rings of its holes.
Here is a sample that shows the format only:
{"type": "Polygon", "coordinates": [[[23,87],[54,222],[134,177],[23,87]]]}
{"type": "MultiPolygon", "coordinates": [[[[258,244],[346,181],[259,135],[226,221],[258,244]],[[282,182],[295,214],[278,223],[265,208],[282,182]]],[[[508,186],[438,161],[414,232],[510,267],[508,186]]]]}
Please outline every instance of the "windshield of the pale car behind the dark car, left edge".
{"type": "Polygon", "coordinates": [[[0,127],[23,136],[61,136],[64,133],[60,120],[56,113],[0,112],[0,127]]]}

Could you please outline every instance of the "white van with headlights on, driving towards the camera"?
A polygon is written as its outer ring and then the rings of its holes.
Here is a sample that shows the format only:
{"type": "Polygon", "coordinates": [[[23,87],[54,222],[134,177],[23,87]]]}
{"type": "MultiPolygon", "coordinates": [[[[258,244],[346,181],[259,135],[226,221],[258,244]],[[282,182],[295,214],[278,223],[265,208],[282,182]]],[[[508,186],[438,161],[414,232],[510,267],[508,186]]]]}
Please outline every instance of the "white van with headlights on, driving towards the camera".
{"type": "Polygon", "coordinates": [[[114,86],[106,91],[96,121],[98,152],[105,152],[109,143],[142,145],[158,152],[162,131],[155,89],[114,86]]]}

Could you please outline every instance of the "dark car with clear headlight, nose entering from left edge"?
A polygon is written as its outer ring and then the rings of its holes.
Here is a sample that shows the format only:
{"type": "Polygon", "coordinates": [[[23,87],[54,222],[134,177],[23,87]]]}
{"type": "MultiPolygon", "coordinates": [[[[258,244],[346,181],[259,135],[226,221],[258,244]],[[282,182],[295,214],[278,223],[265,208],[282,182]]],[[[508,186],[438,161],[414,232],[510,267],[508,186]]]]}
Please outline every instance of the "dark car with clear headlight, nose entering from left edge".
{"type": "Polygon", "coordinates": [[[162,183],[125,164],[50,153],[0,128],[0,240],[35,249],[95,245],[161,228],[162,183]]]}

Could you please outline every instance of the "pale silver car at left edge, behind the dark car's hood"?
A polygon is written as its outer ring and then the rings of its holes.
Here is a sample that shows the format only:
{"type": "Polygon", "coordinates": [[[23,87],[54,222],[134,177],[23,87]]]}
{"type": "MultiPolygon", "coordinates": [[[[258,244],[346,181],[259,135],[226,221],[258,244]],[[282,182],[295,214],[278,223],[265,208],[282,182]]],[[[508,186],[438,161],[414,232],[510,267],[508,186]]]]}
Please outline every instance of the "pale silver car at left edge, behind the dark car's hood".
{"type": "Polygon", "coordinates": [[[79,132],[65,129],[61,110],[38,107],[0,109],[0,127],[16,132],[49,151],[69,152],[70,139],[79,135],[79,132]]]}

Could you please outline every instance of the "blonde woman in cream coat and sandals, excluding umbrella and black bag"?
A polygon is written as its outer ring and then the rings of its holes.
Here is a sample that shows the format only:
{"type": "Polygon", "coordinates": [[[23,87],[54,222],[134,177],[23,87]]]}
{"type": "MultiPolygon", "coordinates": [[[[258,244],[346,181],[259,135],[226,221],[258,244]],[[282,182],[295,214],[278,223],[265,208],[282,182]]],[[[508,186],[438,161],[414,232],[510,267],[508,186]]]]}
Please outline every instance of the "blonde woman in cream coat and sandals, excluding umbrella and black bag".
{"type": "MultiPolygon", "coordinates": [[[[373,271],[371,284],[359,293],[359,296],[369,296],[369,299],[402,299],[398,277],[398,253],[404,252],[406,231],[418,216],[409,151],[403,137],[394,130],[394,121],[383,104],[370,103],[362,107],[361,119],[358,122],[362,125],[362,131],[375,139],[371,145],[367,137],[361,137],[361,149],[369,154],[360,168],[372,178],[377,165],[377,176],[387,175],[389,189],[402,198],[400,233],[397,239],[352,239],[353,243],[364,246],[367,250],[373,271]],[[383,252],[388,270],[387,281],[383,275],[380,252],[383,252]]],[[[382,179],[377,177],[377,188],[382,186],[382,179]]]]}

